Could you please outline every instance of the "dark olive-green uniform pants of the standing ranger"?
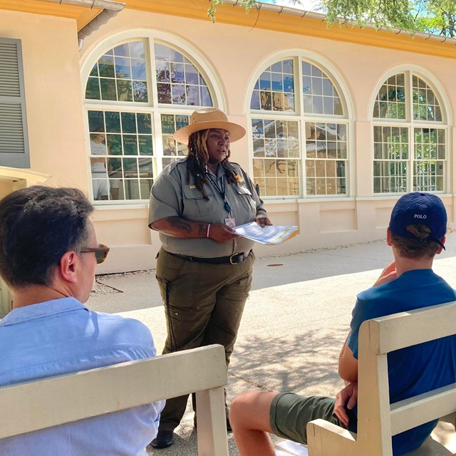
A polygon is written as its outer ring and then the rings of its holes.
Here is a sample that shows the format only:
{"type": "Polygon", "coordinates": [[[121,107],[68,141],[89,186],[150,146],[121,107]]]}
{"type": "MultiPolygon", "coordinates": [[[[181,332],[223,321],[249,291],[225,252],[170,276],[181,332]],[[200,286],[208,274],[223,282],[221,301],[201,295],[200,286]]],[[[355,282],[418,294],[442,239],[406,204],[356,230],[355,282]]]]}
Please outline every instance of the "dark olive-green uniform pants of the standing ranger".
{"type": "MultiPolygon", "coordinates": [[[[177,258],[160,249],[157,281],[167,322],[163,354],[219,343],[227,366],[244,304],[252,286],[254,254],[238,264],[209,264],[177,258]]],[[[188,395],[168,399],[159,430],[174,430],[188,395]]],[[[195,401],[193,404],[195,410],[195,401]]]]}

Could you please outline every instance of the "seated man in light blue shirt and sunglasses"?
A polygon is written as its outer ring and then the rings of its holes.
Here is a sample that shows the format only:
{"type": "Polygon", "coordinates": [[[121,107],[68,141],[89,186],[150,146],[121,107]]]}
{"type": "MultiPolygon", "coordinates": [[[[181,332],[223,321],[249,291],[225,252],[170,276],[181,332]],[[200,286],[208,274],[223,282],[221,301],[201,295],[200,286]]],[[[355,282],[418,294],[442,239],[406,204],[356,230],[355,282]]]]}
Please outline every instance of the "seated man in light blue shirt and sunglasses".
{"type": "MultiPolygon", "coordinates": [[[[0,320],[1,386],[155,356],[140,321],[81,304],[109,250],[98,244],[92,211],[69,188],[29,187],[0,201],[0,275],[14,297],[13,310],[0,320]]],[[[1,439],[0,454],[146,456],[163,405],[1,439]]]]}

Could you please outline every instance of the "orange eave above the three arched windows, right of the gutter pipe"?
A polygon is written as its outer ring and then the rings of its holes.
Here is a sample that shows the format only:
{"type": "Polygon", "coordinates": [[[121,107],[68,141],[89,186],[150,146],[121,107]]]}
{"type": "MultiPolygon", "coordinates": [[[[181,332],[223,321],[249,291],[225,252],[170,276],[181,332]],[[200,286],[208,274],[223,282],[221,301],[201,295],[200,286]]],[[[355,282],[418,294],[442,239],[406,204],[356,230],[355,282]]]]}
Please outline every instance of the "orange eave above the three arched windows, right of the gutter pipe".
{"type": "MultiPolygon", "coordinates": [[[[207,0],[123,1],[125,9],[209,21],[207,9],[210,4],[207,0]]],[[[429,33],[414,33],[398,28],[378,30],[371,24],[366,24],[363,28],[350,23],[328,26],[323,14],[278,5],[260,4],[259,7],[252,8],[249,14],[246,14],[245,9],[239,6],[239,0],[224,0],[224,4],[217,6],[216,17],[217,21],[214,26],[217,26],[218,23],[233,24],[398,51],[456,58],[456,40],[454,38],[429,33]]]]}

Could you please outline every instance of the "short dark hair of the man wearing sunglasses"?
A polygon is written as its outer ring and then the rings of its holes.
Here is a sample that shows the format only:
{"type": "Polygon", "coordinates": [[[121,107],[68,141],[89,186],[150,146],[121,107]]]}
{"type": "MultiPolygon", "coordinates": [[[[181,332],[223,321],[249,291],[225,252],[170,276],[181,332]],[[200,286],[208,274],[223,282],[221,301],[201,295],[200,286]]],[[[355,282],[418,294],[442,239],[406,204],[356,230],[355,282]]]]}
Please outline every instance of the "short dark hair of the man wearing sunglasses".
{"type": "Polygon", "coordinates": [[[35,185],[0,201],[0,275],[10,286],[49,285],[62,255],[80,252],[93,206],[74,188],[35,185]]]}

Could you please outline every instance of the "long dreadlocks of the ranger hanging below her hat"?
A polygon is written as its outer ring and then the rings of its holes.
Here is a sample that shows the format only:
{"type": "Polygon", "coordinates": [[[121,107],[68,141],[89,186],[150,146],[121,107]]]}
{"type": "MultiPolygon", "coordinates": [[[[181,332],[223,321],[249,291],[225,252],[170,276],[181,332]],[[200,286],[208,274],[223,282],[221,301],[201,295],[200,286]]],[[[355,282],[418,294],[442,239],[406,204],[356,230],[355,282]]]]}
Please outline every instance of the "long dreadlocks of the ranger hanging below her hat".
{"type": "MultiPolygon", "coordinates": [[[[210,130],[199,130],[192,133],[188,138],[187,157],[187,184],[190,184],[190,175],[195,179],[197,189],[202,193],[204,199],[209,199],[204,192],[204,185],[208,184],[206,178],[207,166],[209,164],[209,152],[207,152],[206,141],[210,130]]],[[[228,161],[231,151],[228,150],[227,157],[221,163],[225,170],[225,178],[229,184],[242,182],[242,177],[237,174],[233,165],[228,161]]]]}

